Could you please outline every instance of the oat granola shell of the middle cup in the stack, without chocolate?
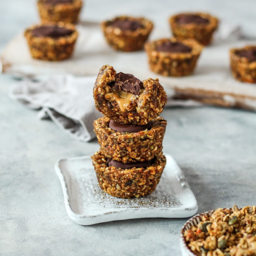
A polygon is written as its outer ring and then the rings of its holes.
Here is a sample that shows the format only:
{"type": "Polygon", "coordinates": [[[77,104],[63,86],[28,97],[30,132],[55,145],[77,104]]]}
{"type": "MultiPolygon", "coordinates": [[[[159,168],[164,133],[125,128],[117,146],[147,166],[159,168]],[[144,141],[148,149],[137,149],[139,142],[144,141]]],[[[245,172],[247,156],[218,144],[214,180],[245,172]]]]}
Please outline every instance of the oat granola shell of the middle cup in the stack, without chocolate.
{"type": "Polygon", "coordinates": [[[162,152],[167,122],[157,117],[151,128],[139,132],[119,132],[109,128],[108,117],[94,121],[94,131],[106,158],[129,164],[146,162],[162,152]]]}

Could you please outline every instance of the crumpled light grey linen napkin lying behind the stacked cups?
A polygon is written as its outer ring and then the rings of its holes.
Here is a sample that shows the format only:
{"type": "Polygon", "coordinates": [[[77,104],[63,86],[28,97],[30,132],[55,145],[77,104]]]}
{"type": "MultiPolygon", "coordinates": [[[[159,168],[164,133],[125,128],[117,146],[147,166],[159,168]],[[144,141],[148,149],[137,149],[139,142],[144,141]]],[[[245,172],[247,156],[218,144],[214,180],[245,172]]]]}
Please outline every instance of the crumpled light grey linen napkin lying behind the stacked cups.
{"type": "Polygon", "coordinates": [[[51,118],[62,130],[82,141],[95,138],[93,121],[102,116],[95,108],[92,88],[96,77],[56,75],[39,82],[23,80],[10,88],[9,96],[40,110],[38,117],[51,118]]]}

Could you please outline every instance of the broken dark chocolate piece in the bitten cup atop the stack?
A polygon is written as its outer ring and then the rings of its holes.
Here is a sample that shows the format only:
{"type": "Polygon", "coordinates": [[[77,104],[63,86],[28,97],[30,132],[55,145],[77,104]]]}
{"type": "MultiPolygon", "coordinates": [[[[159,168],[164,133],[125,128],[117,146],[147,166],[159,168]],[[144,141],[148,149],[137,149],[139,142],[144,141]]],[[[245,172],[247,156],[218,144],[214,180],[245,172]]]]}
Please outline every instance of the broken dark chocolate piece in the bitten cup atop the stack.
{"type": "Polygon", "coordinates": [[[143,89],[143,82],[131,74],[117,73],[116,80],[110,86],[118,91],[126,91],[138,95],[143,89]]]}

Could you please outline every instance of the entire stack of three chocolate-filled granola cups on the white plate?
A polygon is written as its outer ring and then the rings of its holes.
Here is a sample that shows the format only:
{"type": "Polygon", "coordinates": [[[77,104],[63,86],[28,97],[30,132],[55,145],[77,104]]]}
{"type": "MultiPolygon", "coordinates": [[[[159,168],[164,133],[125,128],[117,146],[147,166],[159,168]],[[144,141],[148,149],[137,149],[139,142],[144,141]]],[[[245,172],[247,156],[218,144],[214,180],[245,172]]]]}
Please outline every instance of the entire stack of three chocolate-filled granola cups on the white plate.
{"type": "Polygon", "coordinates": [[[162,175],[167,122],[158,117],[167,96],[158,79],[143,82],[105,65],[94,85],[96,108],[105,115],[94,121],[100,150],[92,164],[108,194],[140,197],[151,194],[162,175]]]}

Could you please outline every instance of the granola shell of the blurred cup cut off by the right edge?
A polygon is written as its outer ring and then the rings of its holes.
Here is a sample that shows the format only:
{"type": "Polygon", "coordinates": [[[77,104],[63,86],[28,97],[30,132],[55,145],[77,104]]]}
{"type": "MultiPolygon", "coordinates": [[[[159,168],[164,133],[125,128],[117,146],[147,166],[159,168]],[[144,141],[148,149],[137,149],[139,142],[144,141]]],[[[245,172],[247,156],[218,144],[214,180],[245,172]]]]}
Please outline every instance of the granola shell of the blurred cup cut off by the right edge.
{"type": "Polygon", "coordinates": [[[242,82],[256,83],[256,61],[237,55],[240,50],[256,50],[256,46],[247,45],[243,48],[230,50],[230,66],[233,77],[242,82]]]}

